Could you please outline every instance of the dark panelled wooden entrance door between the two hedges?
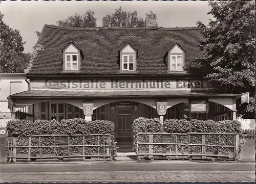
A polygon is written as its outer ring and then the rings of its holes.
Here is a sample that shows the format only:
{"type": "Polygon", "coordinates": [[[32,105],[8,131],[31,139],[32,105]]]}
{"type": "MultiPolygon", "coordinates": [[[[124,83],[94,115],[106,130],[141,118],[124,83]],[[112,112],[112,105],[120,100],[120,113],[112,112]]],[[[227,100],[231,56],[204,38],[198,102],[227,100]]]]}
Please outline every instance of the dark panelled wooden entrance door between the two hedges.
{"type": "Polygon", "coordinates": [[[117,139],[132,140],[132,106],[117,107],[117,139]]]}

